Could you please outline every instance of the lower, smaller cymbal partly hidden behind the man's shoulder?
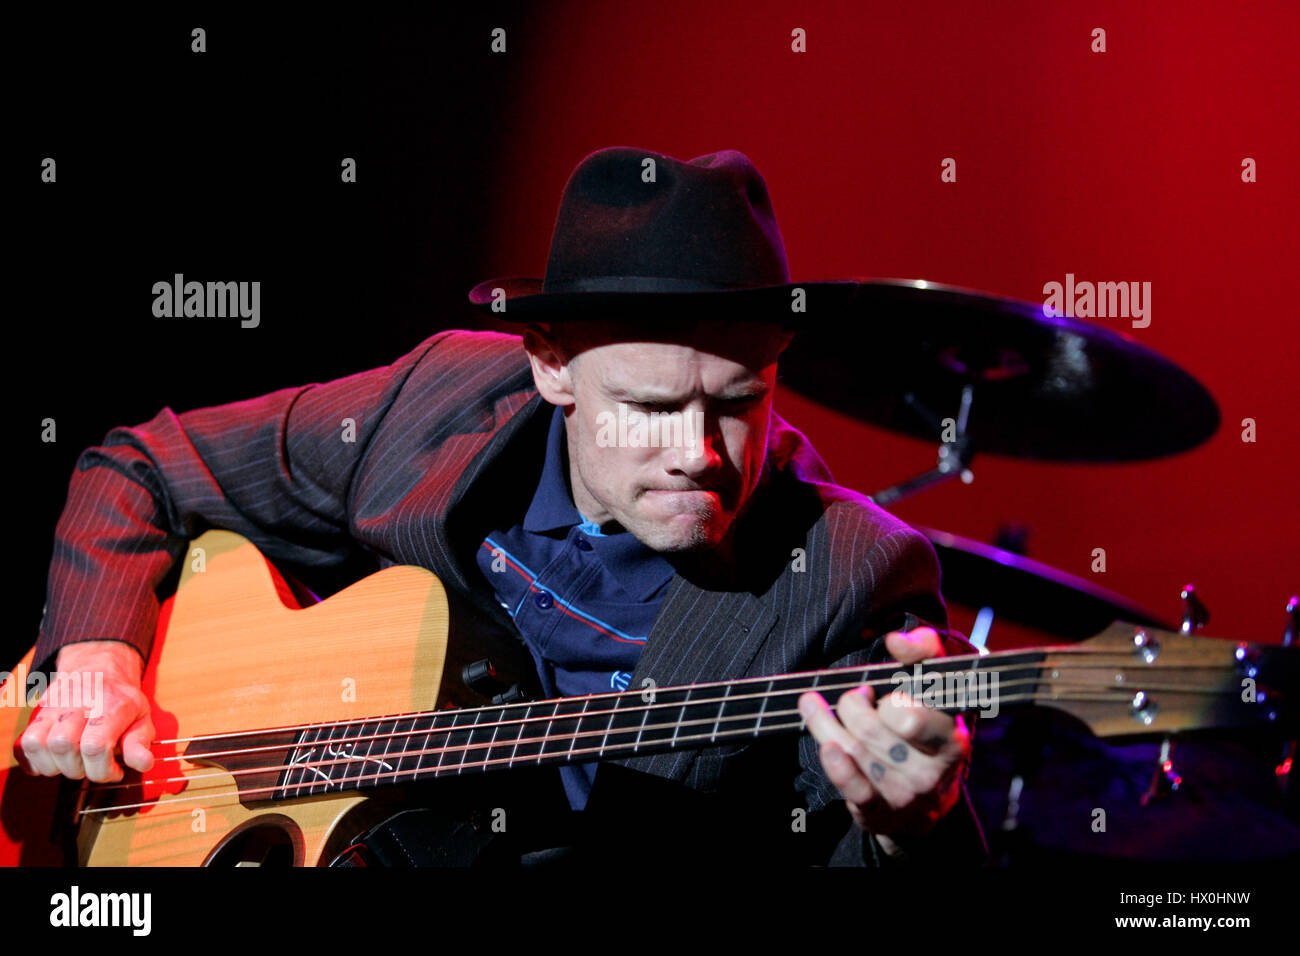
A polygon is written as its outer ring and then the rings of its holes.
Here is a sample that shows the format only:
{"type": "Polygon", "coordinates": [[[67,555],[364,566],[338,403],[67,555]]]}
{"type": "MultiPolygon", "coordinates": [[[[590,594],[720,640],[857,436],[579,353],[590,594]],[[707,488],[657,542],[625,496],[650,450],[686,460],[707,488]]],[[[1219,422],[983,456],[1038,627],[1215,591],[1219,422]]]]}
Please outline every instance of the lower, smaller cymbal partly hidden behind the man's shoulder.
{"type": "Polygon", "coordinates": [[[997,617],[1067,640],[1092,637],[1115,619],[1178,630],[1154,611],[1083,578],[946,531],[913,527],[939,554],[946,601],[992,607],[997,617]]]}

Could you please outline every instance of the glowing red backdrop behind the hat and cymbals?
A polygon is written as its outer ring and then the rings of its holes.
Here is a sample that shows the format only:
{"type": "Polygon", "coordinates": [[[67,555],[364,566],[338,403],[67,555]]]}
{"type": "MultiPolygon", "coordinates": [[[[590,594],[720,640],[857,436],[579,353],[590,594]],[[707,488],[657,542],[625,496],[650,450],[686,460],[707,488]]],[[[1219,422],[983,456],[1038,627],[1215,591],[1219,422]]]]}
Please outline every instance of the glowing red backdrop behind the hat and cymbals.
{"type": "MultiPolygon", "coordinates": [[[[502,23],[525,82],[485,150],[498,182],[482,274],[541,274],[560,190],[588,152],[748,153],[796,280],[927,278],[1028,300],[1043,285],[1152,282],[1130,332],[1201,380],[1223,424],[1152,463],[983,457],[972,485],[900,503],[1178,615],[1275,640],[1300,589],[1295,381],[1297,5],[549,4],[502,23]],[[790,51],[802,27],[807,52],[790,51]],[[1091,51],[1092,30],[1106,52],[1091,51]],[[1242,182],[1253,157],[1258,181],[1242,182]],[[957,182],[940,161],[957,161],[957,182]],[[1158,299],[1158,304],[1156,300],[1158,299]],[[1254,419],[1257,441],[1242,441],[1254,419]],[[1108,570],[1091,571],[1104,548],[1108,570]]],[[[517,65],[517,64],[516,64],[517,65]]],[[[879,489],[933,447],[783,392],[841,484],[879,489]]]]}

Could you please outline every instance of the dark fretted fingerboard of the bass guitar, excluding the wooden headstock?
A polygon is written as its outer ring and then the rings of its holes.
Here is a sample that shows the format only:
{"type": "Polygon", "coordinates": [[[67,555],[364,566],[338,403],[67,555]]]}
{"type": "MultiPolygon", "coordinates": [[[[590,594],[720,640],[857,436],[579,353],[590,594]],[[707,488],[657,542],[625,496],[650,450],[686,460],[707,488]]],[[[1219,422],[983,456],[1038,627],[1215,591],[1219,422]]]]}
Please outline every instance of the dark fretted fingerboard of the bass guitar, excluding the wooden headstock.
{"type": "Polygon", "coordinates": [[[797,734],[803,730],[797,701],[807,691],[833,704],[862,684],[870,684],[878,696],[904,687],[927,706],[948,713],[988,706],[991,684],[1000,704],[1030,701],[1043,658],[1043,650],[1004,652],[937,658],[909,669],[890,662],[647,685],[621,693],[220,735],[195,740],[186,756],[235,771],[247,796],[298,799],[797,734]]]}

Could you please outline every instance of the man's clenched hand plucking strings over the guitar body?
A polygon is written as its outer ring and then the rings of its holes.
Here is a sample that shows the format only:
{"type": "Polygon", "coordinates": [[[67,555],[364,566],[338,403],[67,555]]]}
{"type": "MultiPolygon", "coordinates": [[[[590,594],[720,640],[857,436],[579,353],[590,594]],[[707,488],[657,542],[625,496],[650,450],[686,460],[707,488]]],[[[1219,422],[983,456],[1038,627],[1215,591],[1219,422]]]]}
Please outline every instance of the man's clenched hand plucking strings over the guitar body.
{"type": "Polygon", "coordinates": [[[118,740],[122,761],[135,770],[153,766],[150,744],[153,721],[140,691],[144,662],[122,641],[78,641],[58,652],[58,676],[46,688],[27,728],[14,744],[14,756],[29,774],[64,774],[79,780],[116,782],[125,771],[114,760],[118,740]],[[78,675],[78,676],[73,676],[78,675]],[[78,696],[68,692],[79,680],[78,696]],[[65,706],[47,706],[46,701],[65,706]]]}

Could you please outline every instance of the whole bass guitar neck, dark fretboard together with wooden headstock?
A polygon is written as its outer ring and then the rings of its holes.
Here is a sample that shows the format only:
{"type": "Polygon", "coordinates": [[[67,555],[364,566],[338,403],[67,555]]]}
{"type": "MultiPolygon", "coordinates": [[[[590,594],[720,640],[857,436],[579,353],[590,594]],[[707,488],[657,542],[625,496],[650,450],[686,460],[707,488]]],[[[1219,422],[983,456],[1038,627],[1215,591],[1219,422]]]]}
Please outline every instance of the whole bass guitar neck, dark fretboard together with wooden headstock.
{"type": "Polygon", "coordinates": [[[1290,732],[1296,711],[1284,706],[1286,688],[1297,679],[1295,648],[1115,622],[1078,645],[222,734],[191,737],[185,756],[230,770],[240,797],[286,800],[797,734],[800,695],[816,691],[833,706],[863,684],[878,697],[905,689],[950,714],[1041,704],[1097,736],[1290,732]]]}

